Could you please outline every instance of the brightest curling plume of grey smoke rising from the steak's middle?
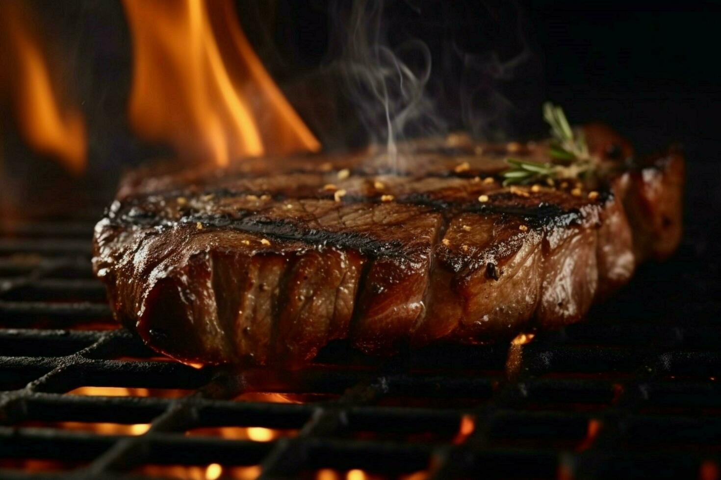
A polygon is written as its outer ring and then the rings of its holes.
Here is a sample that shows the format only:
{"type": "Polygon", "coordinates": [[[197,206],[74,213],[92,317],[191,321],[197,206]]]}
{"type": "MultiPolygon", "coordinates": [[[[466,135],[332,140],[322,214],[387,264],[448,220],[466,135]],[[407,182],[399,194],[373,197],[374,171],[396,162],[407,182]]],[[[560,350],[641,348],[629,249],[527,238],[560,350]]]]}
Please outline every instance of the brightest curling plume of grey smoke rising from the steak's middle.
{"type": "Polygon", "coordinates": [[[403,140],[438,137],[447,130],[428,94],[430,50],[412,37],[391,46],[383,1],[360,0],[336,8],[332,43],[340,45],[340,52],[334,66],[368,139],[386,145],[389,165],[398,168],[403,140]]]}

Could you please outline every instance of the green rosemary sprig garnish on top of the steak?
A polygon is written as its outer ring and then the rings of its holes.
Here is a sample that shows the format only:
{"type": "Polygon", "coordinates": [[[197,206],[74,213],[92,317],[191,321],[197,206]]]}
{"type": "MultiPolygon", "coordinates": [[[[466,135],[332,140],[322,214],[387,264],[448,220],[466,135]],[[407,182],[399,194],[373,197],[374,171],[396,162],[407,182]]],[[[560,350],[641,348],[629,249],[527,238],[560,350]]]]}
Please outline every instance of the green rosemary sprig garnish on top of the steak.
{"type": "Polygon", "coordinates": [[[551,163],[536,163],[506,158],[510,168],[503,172],[503,186],[541,182],[553,184],[557,178],[579,178],[596,168],[596,159],[588,153],[583,131],[574,131],[561,107],[550,102],[543,106],[544,120],[551,126],[551,163]]]}

